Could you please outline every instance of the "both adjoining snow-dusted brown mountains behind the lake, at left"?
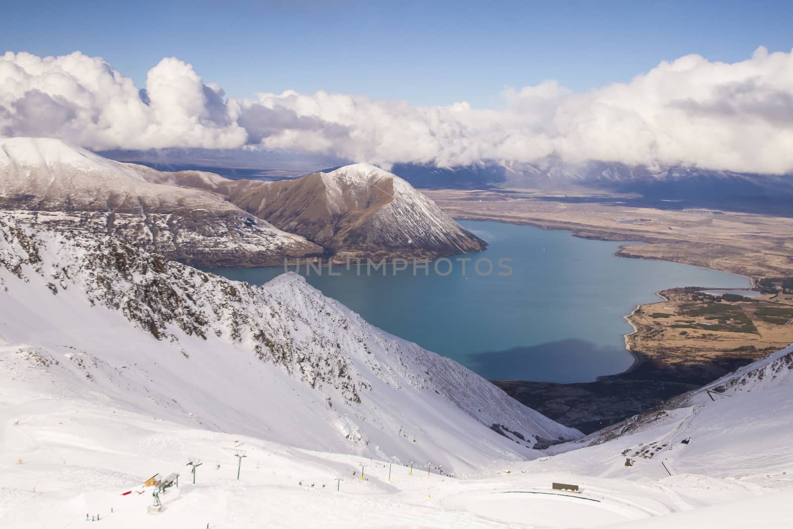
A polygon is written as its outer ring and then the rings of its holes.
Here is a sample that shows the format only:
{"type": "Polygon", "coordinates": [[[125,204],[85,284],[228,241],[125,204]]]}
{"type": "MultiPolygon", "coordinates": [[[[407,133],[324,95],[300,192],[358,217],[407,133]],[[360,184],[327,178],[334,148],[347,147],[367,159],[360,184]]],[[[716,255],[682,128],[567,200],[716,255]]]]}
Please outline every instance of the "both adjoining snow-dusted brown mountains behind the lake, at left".
{"type": "Polygon", "coordinates": [[[115,162],[50,138],[0,138],[0,209],[202,266],[280,266],[342,251],[432,259],[486,245],[407,182],[365,164],[230,180],[115,162]]]}

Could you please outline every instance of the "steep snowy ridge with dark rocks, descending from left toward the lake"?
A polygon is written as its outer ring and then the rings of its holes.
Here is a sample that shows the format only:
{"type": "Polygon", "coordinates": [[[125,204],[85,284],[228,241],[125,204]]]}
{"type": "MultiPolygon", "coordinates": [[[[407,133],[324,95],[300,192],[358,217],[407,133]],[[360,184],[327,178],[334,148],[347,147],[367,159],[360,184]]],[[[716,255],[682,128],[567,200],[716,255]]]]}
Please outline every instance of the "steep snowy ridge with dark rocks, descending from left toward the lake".
{"type": "Polygon", "coordinates": [[[13,349],[3,369],[36,385],[183,424],[464,473],[580,436],[294,274],[250,286],[109,236],[34,234],[8,216],[0,265],[0,335],[13,349]]]}

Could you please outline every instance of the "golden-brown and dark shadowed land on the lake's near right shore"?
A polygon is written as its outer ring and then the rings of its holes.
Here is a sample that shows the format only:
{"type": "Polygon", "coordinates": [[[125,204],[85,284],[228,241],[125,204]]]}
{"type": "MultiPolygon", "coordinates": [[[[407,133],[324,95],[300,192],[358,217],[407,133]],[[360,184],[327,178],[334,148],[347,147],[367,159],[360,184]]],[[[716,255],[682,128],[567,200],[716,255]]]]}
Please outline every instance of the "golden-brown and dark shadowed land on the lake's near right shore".
{"type": "Polygon", "coordinates": [[[793,313],[793,295],[781,296],[780,302],[772,302],[770,295],[764,295],[752,301],[718,304],[707,297],[692,299],[699,294],[689,289],[668,289],[659,295],[662,301],[639,305],[626,316],[634,328],[625,336],[634,363],[622,373],[573,384],[494,383],[561,424],[592,433],[699,388],[793,342],[793,325],[774,324],[772,318],[758,316],[764,307],[793,313]],[[730,314],[725,317],[742,320],[745,316],[752,321],[754,332],[741,332],[741,328],[729,325],[722,325],[729,330],[711,331],[709,318],[718,316],[704,311],[714,310],[713,307],[730,314]]]}

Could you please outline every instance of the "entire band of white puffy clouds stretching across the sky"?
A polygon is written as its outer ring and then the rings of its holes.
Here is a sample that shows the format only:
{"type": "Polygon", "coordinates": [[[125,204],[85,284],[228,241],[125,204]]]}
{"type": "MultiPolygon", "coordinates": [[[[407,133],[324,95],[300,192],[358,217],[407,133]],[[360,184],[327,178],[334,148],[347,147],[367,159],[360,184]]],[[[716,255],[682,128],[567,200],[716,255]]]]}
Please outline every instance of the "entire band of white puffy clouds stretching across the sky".
{"type": "Polygon", "coordinates": [[[324,91],[225,100],[220,86],[205,84],[178,59],[163,59],[140,89],[79,52],[6,53],[0,134],[59,136],[96,149],[257,144],[385,167],[554,157],[793,172],[793,52],[758,48],[738,63],[684,56],[587,93],[548,81],[501,95],[497,109],[324,91]]]}

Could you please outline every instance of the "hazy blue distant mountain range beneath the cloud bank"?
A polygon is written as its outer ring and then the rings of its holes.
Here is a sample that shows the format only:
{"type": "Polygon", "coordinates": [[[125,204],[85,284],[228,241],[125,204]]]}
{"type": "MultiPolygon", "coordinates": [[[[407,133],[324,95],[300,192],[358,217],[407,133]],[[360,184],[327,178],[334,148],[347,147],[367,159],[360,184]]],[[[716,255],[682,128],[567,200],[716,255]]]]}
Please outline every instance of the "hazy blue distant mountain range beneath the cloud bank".
{"type": "MultiPolygon", "coordinates": [[[[313,171],[329,172],[350,162],[330,156],[286,151],[238,149],[167,149],[165,151],[109,151],[109,158],[143,163],[159,170],[201,169],[226,178],[278,180],[313,171]],[[330,167],[330,169],[320,169],[330,167]]],[[[546,159],[538,163],[485,160],[465,167],[395,163],[393,174],[418,188],[535,189],[587,188],[607,193],[635,194],[637,205],[668,208],[710,207],[737,211],[793,214],[793,175],[747,174],[696,167],[630,167],[622,163],[565,163],[546,159]]]]}

